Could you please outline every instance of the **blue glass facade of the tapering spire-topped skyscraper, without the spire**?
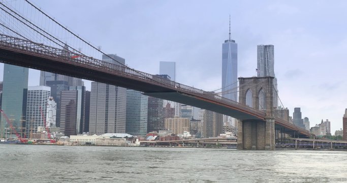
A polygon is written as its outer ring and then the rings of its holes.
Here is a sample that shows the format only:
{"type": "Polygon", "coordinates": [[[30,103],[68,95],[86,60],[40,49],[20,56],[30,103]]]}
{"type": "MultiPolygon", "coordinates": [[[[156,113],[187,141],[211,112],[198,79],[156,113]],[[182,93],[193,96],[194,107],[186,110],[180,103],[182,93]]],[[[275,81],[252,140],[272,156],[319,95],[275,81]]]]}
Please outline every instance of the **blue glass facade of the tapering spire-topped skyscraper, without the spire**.
{"type": "Polygon", "coordinates": [[[237,102],[237,43],[230,37],[222,45],[222,97],[237,102]]]}

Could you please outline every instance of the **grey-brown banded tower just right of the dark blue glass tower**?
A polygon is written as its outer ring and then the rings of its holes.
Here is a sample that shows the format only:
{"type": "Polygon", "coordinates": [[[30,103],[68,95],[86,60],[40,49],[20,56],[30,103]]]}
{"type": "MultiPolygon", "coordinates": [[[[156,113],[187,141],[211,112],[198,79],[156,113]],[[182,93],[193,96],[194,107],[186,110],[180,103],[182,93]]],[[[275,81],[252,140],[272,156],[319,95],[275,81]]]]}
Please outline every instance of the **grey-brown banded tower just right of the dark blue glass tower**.
{"type": "Polygon", "coordinates": [[[62,91],[60,105],[60,132],[77,135],[78,90],[62,91]]]}

